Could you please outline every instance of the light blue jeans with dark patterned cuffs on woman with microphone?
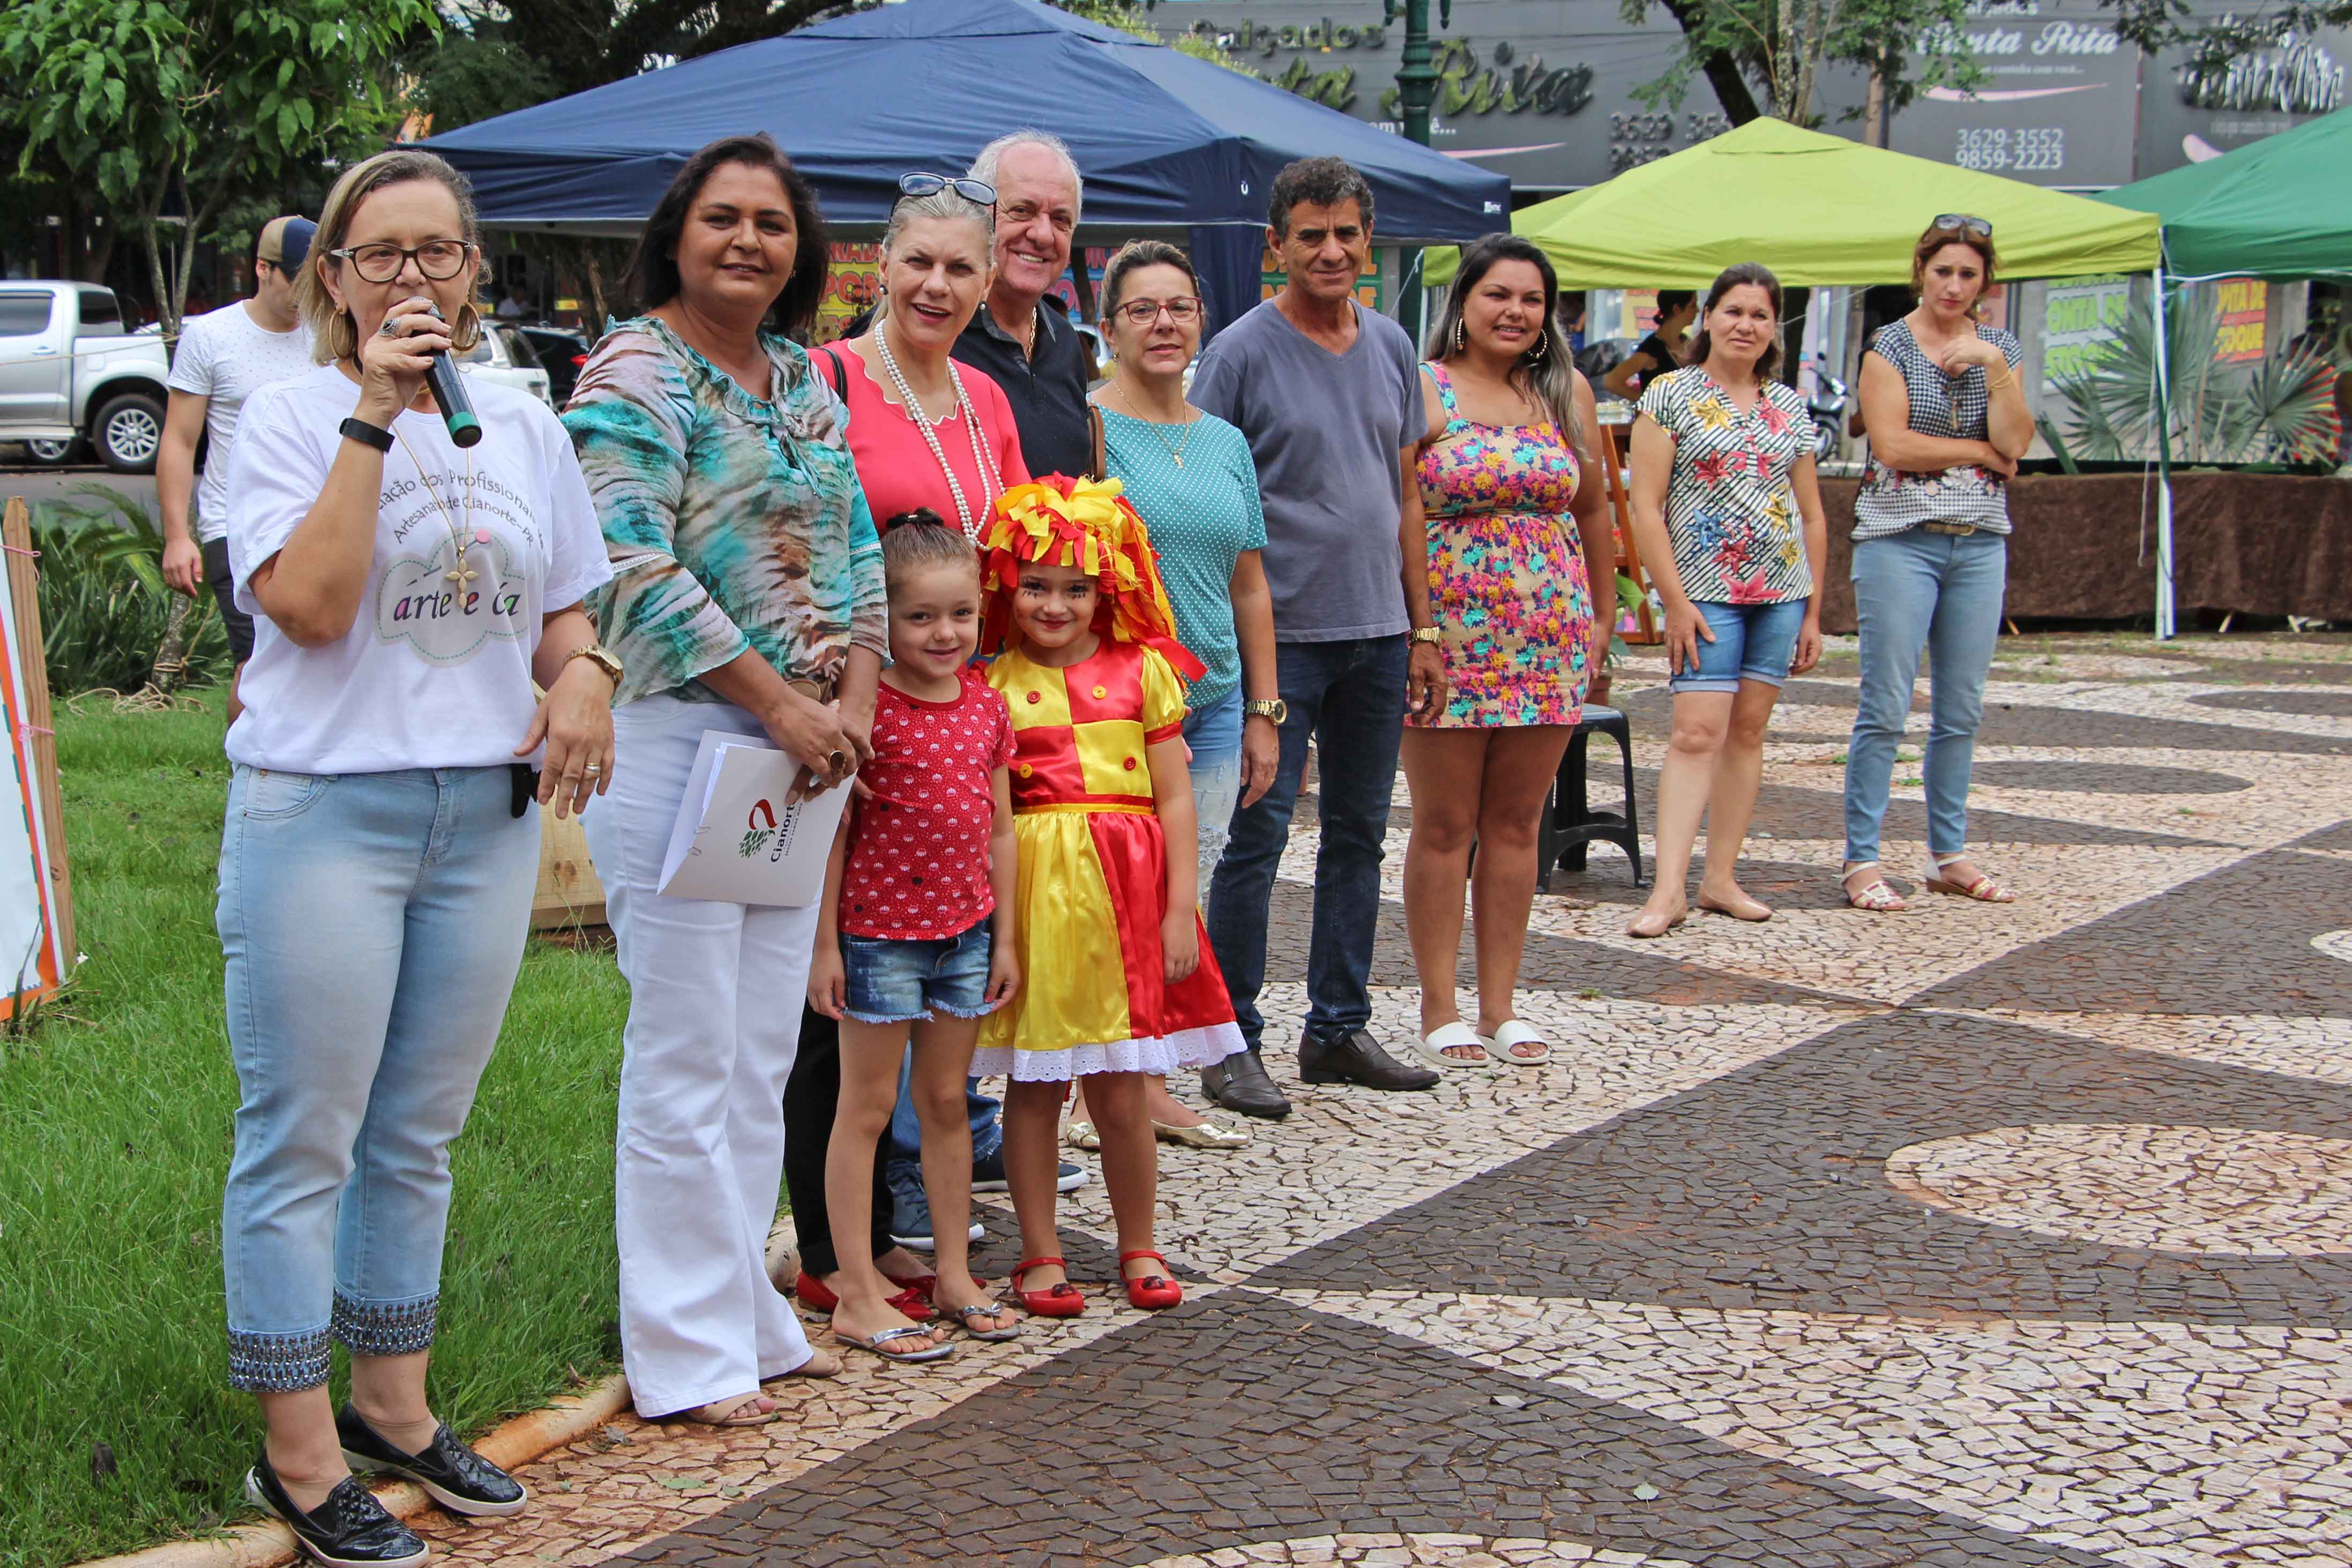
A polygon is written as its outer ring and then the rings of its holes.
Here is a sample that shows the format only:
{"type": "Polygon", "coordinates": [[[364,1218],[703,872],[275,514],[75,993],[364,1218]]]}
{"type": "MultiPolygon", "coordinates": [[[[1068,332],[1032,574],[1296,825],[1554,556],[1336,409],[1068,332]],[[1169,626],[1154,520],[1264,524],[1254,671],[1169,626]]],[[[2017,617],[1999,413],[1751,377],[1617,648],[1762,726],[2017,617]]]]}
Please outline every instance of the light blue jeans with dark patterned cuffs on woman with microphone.
{"type": "Polygon", "coordinates": [[[449,1143],[506,1020],[539,870],[508,769],[238,764],[221,827],[238,1138],[221,1197],[228,1380],[327,1382],[433,1345],[449,1143]]]}

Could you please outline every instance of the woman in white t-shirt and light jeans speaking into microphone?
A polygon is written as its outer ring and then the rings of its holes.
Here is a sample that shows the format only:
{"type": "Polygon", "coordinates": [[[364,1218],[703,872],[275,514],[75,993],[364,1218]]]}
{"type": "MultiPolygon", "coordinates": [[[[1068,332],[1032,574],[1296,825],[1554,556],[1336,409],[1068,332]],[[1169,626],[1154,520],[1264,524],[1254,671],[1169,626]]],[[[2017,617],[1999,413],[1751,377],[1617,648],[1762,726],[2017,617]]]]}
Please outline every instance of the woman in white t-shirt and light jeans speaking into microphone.
{"type": "Polygon", "coordinates": [[[562,425],[473,383],[482,440],[461,449],[426,390],[433,355],[482,331],[477,268],[449,165],[346,172],[296,284],[322,364],[252,397],[228,477],[256,628],[219,893],[242,1091],[228,1380],[268,1425],[247,1497],[308,1556],[367,1568],[426,1547],[350,1467],[456,1514],[524,1505],[426,1399],[449,1143],[522,964],[532,802],[579,811],[612,783],[623,675],[581,614],[612,569],[562,425]],[[329,1338],[350,1349],[341,1410],[329,1338]]]}

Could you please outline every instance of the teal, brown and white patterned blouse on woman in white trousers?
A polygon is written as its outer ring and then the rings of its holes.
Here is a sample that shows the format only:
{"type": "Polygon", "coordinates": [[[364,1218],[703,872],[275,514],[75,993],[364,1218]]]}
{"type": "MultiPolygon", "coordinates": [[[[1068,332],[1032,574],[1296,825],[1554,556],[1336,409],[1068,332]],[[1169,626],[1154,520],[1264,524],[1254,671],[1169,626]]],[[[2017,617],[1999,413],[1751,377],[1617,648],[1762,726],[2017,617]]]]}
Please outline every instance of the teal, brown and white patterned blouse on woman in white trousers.
{"type": "Polygon", "coordinates": [[[776,336],[753,397],[656,317],[588,355],[564,411],[614,578],[588,595],[628,668],[614,701],[668,691],[757,651],[786,679],[837,679],[849,649],[889,654],[882,541],[849,461],[849,414],[776,336]]]}

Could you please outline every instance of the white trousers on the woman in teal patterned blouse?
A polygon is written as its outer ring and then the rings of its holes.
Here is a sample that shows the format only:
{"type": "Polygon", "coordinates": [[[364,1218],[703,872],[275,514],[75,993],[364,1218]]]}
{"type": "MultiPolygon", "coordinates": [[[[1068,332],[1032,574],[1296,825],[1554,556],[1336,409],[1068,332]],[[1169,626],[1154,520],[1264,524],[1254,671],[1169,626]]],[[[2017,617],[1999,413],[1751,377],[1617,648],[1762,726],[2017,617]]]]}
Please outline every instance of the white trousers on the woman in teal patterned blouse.
{"type": "Polygon", "coordinates": [[[767,1279],[767,1229],[816,905],[654,891],[706,729],[764,733],[727,703],[619,708],[612,795],[583,816],[630,987],[614,1227],[621,1366],[644,1418],[750,1394],[811,1354],[767,1279]]]}

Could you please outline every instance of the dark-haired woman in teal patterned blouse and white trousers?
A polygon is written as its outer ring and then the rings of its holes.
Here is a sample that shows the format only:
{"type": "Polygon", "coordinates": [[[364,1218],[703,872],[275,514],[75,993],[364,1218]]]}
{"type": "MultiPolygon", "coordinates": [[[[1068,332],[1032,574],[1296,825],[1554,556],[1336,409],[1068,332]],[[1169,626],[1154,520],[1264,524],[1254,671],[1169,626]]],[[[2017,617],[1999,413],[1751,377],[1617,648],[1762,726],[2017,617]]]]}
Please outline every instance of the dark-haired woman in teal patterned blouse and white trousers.
{"type": "Polygon", "coordinates": [[[640,1415],[724,1427],[776,1420],[769,1378],[840,1371],[764,1267],[816,905],[656,886],[703,731],[771,741],[809,790],[868,755],[882,545],[847,411],[786,336],[816,315],[826,261],[816,195],[776,143],[710,143],[637,244],[649,310],[604,334],[564,414],[614,569],[588,609],[628,668],[588,835],[630,985],[621,1359],[640,1415]]]}

